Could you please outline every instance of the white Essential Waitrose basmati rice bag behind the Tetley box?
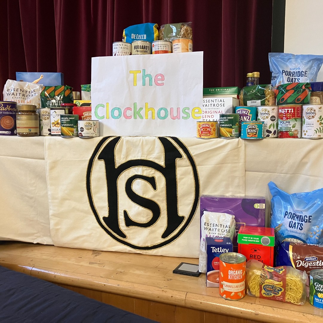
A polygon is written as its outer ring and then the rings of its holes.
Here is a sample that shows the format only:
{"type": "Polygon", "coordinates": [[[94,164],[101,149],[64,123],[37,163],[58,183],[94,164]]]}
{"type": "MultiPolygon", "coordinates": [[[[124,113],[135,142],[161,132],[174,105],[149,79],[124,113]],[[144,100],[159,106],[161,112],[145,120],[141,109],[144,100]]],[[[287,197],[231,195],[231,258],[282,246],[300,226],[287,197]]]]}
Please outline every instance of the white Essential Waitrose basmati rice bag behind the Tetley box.
{"type": "Polygon", "coordinates": [[[199,256],[199,271],[206,273],[205,237],[229,237],[234,236],[234,215],[203,211],[201,216],[201,242],[199,256]]]}

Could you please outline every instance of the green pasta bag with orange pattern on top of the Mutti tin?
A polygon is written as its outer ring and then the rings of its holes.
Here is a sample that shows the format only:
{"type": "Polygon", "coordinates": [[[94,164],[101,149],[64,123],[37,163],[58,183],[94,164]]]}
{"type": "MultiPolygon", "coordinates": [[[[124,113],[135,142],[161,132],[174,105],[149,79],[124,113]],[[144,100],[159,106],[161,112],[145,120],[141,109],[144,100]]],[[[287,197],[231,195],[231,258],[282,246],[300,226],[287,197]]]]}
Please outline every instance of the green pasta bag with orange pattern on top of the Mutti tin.
{"type": "Polygon", "coordinates": [[[277,88],[277,105],[309,104],[311,98],[310,83],[286,83],[277,88]]]}

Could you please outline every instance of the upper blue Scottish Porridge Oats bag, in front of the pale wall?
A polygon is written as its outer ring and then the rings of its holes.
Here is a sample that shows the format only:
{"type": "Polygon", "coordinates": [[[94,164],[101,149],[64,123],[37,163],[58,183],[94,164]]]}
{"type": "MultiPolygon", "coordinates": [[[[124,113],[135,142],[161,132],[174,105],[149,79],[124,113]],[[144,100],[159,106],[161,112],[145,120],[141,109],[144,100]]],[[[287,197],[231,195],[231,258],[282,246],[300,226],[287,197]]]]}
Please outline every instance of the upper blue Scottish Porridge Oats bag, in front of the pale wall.
{"type": "Polygon", "coordinates": [[[269,53],[269,68],[274,87],[285,83],[316,82],[323,55],[269,53]]]}

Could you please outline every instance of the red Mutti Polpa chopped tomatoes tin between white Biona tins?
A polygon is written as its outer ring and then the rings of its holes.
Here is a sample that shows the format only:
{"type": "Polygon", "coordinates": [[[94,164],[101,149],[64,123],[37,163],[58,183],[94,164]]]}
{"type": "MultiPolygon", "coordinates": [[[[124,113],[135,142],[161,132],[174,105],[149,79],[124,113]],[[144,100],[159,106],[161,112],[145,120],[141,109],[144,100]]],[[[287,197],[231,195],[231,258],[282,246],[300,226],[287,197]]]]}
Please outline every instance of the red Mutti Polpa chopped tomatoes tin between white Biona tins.
{"type": "Polygon", "coordinates": [[[278,107],[278,138],[301,138],[302,106],[281,105],[278,107]]]}

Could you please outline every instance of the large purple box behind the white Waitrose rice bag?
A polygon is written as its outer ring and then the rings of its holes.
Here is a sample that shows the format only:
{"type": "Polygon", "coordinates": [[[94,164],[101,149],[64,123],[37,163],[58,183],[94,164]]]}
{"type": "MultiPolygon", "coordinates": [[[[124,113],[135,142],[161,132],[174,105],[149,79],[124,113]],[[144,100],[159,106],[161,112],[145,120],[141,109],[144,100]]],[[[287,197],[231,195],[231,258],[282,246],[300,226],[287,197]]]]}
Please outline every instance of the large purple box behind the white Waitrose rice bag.
{"type": "Polygon", "coordinates": [[[237,236],[241,226],[265,226],[265,202],[264,197],[258,196],[228,197],[224,195],[202,195],[200,197],[200,217],[202,217],[203,211],[234,215],[233,251],[238,252],[237,236]]]}

